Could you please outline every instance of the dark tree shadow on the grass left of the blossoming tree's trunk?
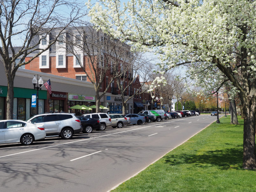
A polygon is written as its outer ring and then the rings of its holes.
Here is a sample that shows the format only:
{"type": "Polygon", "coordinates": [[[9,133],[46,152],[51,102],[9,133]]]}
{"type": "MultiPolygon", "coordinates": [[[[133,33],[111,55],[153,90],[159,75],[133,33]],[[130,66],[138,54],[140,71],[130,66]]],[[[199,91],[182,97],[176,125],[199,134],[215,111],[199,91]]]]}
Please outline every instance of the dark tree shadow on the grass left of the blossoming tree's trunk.
{"type": "Polygon", "coordinates": [[[222,170],[242,169],[243,146],[223,150],[206,151],[204,154],[168,155],[165,162],[170,165],[193,164],[193,167],[218,167],[222,170]]]}

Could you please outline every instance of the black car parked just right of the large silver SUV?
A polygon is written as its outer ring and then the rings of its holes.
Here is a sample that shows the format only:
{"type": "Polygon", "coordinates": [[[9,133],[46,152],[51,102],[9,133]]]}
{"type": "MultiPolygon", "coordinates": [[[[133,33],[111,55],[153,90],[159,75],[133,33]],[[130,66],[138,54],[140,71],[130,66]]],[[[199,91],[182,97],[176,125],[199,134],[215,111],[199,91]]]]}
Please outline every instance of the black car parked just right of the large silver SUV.
{"type": "Polygon", "coordinates": [[[81,121],[84,133],[92,133],[93,130],[100,129],[100,121],[98,119],[92,119],[90,117],[78,116],[81,121]]]}

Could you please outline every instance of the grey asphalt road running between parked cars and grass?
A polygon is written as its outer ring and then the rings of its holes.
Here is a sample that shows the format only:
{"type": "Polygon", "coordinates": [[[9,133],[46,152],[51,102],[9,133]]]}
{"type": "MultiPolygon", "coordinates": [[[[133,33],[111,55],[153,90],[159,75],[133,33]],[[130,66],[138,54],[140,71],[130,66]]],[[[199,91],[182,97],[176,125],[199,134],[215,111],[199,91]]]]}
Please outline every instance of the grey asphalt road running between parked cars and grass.
{"type": "Polygon", "coordinates": [[[187,141],[216,116],[108,128],[72,140],[0,145],[0,191],[108,191],[187,141]]]}

